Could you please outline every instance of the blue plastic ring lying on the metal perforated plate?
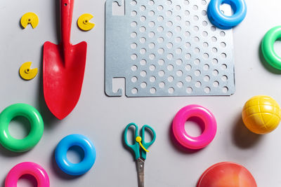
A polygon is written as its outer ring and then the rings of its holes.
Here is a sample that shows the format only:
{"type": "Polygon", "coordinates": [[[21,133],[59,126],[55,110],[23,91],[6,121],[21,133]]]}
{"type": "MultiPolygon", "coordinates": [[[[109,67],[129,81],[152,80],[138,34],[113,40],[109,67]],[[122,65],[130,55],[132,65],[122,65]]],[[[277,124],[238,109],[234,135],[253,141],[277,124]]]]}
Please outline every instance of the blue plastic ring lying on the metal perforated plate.
{"type": "Polygon", "coordinates": [[[208,6],[208,18],[210,22],[220,29],[231,29],[244,20],[247,6],[244,0],[211,0],[208,6]],[[233,15],[221,13],[221,4],[230,4],[233,15]]]}

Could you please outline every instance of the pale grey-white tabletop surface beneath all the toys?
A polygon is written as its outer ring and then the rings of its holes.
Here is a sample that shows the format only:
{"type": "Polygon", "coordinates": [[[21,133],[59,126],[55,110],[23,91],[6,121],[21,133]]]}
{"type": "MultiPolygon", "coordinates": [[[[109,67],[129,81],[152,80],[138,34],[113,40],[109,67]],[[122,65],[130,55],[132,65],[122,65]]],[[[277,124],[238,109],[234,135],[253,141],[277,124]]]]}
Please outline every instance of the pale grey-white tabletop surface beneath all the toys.
{"type": "MultiPolygon", "coordinates": [[[[0,183],[14,165],[37,162],[50,177],[51,186],[137,186],[133,156],[122,144],[126,124],[148,124],[155,128],[157,139],[145,161],[145,186],[195,186],[207,167],[221,161],[233,161],[247,167],[259,187],[281,186],[281,129],[259,136],[242,124],[244,102],[254,95],[270,95],[281,104],[280,74],[263,66],[259,49],[268,29],[280,25],[281,1],[247,0],[247,17],[234,29],[236,92],[230,97],[107,97],[104,93],[104,0],[76,0],[72,22],[72,42],[88,42],[84,85],[80,100],[67,118],[57,120],[46,108],[42,95],[42,46],[45,41],[58,43],[55,10],[58,0],[0,2],[0,110],[23,102],[36,107],[44,118],[45,130],[39,144],[27,153],[11,153],[0,147],[0,183]],[[24,13],[39,15],[36,29],[21,29],[24,13]],[[81,32],[76,20],[83,13],[94,15],[96,27],[81,32]],[[18,69],[31,61],[39,67],[32,81],[22,81],[18,69]],[[190,153],[181,151],[171,141],[171,120],[188,104],[207,107],[216,116],[218,131],[207,148],[190,153]],[[67,134],[80,133],[96,146],[93,168],[83,176],[60,172],[53,151],[67,134]]],[[[190,0],[194,1],[194,0],[190,0]]],[[[279,46],[280,47],[280,46],[279,46]]],[[[279,48],[280,50],[281,48],[279,48]]],[[[11,125],[11,133],[22,136],[20,120],[11,125]],[[18,132],[17,132],[18,130],[18,132]]],[[[72,157],[74,159],[72,154],[72,157]]],[[[21,186],[32,183],[26,179],[21,186]]]]}

